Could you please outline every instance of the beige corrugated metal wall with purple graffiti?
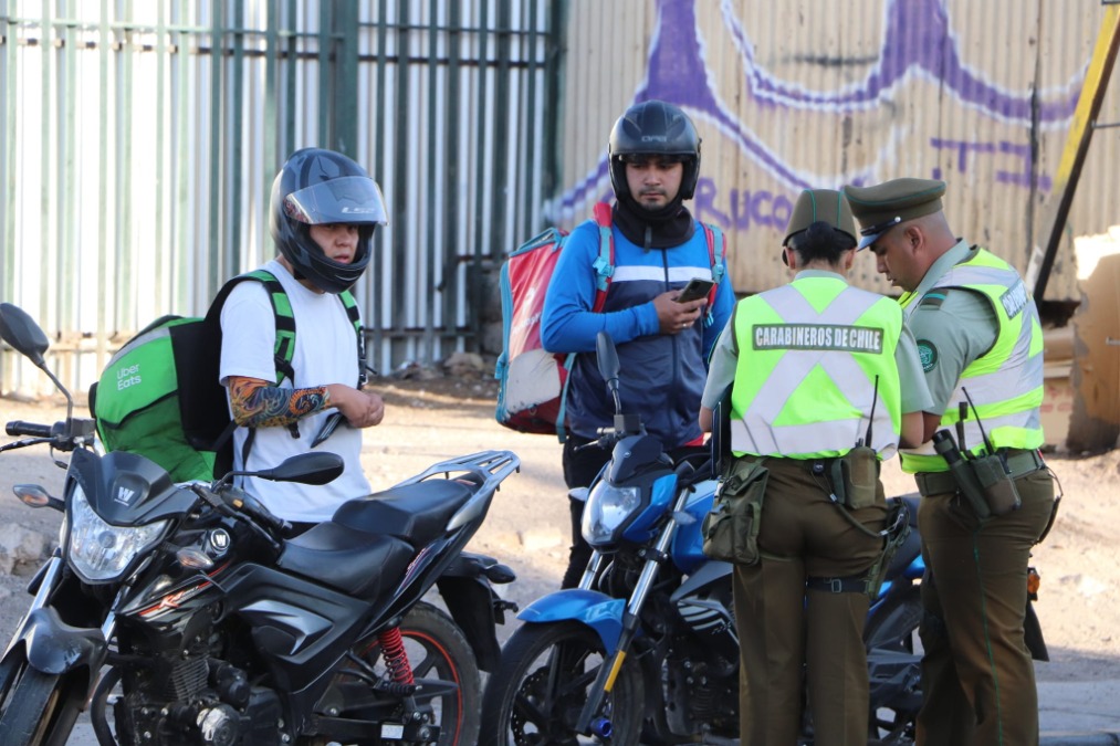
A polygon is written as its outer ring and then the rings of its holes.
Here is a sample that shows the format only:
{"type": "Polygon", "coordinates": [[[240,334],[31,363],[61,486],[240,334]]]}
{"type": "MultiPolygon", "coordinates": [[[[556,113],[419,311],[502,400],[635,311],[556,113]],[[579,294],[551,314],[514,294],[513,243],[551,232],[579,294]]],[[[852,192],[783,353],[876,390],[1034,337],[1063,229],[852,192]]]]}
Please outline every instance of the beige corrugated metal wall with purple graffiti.
{"type": "MultiPolygon", "coordinates": [[[[609,195],[612,124],[660,97],[700,129],[693,206],[729,233],[740,292],[788,279],[778,245],[801,189],[902,176],[945,179],[954,230],[1026,270],[1103,15],[1100,0],[573,0],[550,214],[571,224],[609,195]]],[[[1120,72],[1100,121],[1120,121],[1120,72]]],[[[1098,130],[1047,300],[1080,299],[1073,237],[1120,223],[1117,162],[1120,129],[1098,130]]],[[[856,281],[887,291],[865,259],[856,281]]]]}

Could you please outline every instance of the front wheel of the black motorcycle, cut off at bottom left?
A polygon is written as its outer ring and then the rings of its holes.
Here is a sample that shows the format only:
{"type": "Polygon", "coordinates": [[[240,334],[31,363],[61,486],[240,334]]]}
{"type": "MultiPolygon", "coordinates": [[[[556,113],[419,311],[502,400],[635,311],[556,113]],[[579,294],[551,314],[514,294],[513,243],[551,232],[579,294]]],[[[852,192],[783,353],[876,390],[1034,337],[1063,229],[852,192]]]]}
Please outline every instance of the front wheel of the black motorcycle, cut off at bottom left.
{"type": "Polygon", "coordinates": [[[0,663],[0,744],[63,746],[77,721],[83,693],[74,675],[32,669],[22,654],[0,663]]]}

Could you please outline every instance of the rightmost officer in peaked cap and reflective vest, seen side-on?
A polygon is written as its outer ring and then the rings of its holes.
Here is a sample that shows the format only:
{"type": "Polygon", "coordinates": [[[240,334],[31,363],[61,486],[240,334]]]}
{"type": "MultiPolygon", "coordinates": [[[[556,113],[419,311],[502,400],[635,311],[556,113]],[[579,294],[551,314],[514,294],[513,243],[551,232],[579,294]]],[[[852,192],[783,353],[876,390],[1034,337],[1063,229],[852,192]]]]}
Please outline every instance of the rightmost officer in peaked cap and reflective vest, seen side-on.
{"type": "Polygon", "coordinates": [[[1012,267],[953,235],[943,181],[902,178],[843,192],[862,226],[860,249],[869,246],[878,271],[905,291],[899,304],[935,404],[924,445],[902,453],[923,497],[917,743],[1032,746],[1038,698],[1024,641],[1027,560],[1054,505],[1037,451],[1038,311],[1012,267]],[[940,447],[930,442],[935,432],[940,447]],[[955,473],[942,456],[954,460],[952,446],[964,455],[955,473]],[[978,479],[990,484],[978,489],[978,479]]]}

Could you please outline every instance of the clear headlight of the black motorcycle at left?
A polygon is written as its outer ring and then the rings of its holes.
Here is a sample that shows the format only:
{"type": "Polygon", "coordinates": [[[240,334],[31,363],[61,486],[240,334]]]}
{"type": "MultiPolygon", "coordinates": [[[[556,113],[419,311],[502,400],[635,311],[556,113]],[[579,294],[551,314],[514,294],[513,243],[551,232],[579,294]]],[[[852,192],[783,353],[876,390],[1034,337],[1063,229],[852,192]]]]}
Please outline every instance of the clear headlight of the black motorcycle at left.
{"type": "Polygon", "coordinates": [[[120,578],[132,560],[155,545],[167,529],[167,521],[147,525],[111,525],[94,513],[82,485],[75,483],[69,500],[69,537],[66,557],[71,566],[90,582],[120,578]]]}

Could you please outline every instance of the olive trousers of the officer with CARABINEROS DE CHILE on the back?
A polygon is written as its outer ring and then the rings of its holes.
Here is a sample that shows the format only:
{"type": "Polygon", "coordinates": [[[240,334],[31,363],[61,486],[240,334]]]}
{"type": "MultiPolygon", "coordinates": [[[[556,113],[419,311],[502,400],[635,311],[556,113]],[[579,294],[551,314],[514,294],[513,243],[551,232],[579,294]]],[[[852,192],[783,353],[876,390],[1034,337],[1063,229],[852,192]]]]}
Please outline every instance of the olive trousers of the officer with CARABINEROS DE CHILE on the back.
{"type": "MultiPolygon", "coordinates": [[[[867,654],[862,593],[806,590],[809,577],[867,570],[883,548],[829,500],[828,483],[806,465],[767,459],[757,565],[735,569],[739,633],[739,730],[743,746],[794,746],[808,709],[815,746],[866,746],[867,654]]],[[[870,531],[886,517],[878,504],[850,513],[870,531]]]]}

